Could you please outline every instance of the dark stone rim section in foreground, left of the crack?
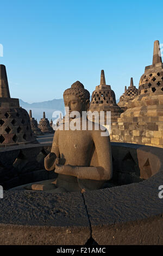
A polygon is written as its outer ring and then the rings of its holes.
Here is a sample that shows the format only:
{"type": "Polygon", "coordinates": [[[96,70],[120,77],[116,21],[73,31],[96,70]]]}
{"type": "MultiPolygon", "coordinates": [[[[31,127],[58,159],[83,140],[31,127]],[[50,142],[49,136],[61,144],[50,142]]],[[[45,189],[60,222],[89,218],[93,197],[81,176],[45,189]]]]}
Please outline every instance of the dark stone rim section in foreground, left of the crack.
{"type": "Polygon", "coordinates": [[[0,245],[84,245],[90,238],[81,193],[4,191],[0,212],[0,245]]]}

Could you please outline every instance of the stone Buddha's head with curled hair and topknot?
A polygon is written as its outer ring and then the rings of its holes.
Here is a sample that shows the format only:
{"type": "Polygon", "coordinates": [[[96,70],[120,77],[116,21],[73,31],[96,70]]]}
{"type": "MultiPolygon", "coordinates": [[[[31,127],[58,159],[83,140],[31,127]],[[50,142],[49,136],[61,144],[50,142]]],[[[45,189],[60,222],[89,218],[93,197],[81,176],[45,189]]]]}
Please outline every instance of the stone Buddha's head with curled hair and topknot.
{"type": "Polygon", "coordinates": [[[64,92],[65,107],[69,107],[69,114],[72,111],[78,111],[82,115],[82,111],[87,111],[90,106],[90,93],[84,89],[84,86],[79,81],[72,84],[64,92]]]}

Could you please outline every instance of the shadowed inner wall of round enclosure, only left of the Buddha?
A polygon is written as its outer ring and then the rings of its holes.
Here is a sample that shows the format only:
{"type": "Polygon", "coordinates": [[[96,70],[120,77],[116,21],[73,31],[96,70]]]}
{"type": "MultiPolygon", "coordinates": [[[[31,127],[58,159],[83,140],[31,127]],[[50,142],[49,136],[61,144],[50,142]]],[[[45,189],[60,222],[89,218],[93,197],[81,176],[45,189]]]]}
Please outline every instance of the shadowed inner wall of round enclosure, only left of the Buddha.
{"type": "Polygon", "coordinates": [[[44,167],[44,158],[51,152],[51,145],[30,144],[0,149],[0,185],[4,190],[56,178],[57,174],[44,167]]]}

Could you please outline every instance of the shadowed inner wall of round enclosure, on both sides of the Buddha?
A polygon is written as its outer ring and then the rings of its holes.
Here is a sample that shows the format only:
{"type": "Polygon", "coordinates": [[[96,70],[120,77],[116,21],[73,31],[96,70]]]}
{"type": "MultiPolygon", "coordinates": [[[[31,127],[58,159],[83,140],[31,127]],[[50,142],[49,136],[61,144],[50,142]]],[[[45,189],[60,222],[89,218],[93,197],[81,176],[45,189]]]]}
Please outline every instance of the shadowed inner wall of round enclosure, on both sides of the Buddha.
{"type": "MultiPolygon", "coordinates": [[[[55,179],[57,174],[47,171],[44,158],[51,152],[51,143],[23,145],[0,149],[0,185],[4,190],[12,187],[55,179]]],[[[147,147],[148,150],[151,147],[147,147]]],[[[156,156],[146,153],[146,147],[128,143],[111,143],[113,178],[104,187],[126,185],[150,178],[158,172],[156,156]],[[142,154],[138,151],[143,148],[142,154]],[[143,159],[141,159],[143,155],[143,159]]]]}

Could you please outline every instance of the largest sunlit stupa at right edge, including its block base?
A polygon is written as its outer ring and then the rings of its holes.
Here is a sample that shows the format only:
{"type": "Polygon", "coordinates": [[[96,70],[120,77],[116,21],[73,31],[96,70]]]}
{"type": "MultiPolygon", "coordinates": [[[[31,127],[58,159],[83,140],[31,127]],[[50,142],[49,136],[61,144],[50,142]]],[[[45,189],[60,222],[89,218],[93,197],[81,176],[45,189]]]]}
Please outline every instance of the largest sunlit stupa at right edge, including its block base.
{"type": "MultiPolygon", "coordinates": [[[[154,42],[153,64],[146,66],[138,95],[128,103],[118,124],[123,142],[163,147],[163,64],[158,40],[154,42]]],[[[114,141],[119,141],[118,137],[114,141]]]]}

